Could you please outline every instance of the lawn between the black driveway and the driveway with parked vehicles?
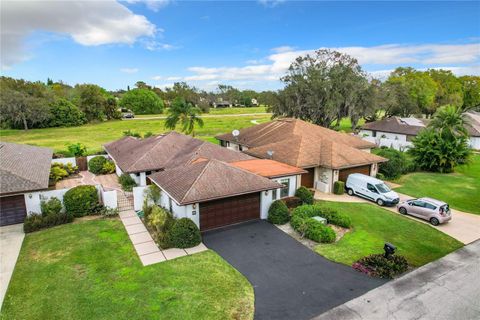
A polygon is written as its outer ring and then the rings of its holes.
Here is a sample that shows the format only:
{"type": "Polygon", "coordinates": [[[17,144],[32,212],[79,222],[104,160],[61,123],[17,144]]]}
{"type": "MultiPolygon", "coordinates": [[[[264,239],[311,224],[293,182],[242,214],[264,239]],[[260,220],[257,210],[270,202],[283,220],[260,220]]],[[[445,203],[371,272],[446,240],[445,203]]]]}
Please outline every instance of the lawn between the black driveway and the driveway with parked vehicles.
{"type": "Polygon", "coordinates": [[[327,259],[351,265],[372,253],[383,253],[390,242],[410,265],[419,267],[463,246],[434,228],[368,203],[325,202],[351,217],[353,231],[338,242],[320,244],[315,251],[327,259]]]}

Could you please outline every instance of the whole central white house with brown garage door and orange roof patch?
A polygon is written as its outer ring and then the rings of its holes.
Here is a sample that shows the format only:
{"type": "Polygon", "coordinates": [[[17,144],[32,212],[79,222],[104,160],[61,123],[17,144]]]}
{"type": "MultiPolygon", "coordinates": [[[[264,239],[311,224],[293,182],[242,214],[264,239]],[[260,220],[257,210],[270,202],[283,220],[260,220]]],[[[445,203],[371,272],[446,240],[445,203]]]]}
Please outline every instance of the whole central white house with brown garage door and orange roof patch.
{"type": "Polygon", "coordinates": [[[272,201],[292,196],[305,172],[174,131],[124,137],[104,149],[118,175],[129,174],[139,186],[155,183],[162,190],[159,204],[202,231],[266,219],[272,201]]]}

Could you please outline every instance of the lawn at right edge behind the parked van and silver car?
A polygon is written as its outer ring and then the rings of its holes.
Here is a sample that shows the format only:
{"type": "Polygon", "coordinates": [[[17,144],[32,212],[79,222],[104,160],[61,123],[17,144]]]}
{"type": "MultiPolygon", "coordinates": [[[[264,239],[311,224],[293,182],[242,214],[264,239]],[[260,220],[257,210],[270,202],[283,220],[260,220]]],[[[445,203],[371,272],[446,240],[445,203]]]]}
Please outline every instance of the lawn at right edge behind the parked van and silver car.
{"type": "Polygon", "coordinates": [[[432,197],[452,208],[480,214],[480,155],[470,164],[457,167],[454,173],[415,172],[395,181],[395,190],[413,197],[432,197]]]}

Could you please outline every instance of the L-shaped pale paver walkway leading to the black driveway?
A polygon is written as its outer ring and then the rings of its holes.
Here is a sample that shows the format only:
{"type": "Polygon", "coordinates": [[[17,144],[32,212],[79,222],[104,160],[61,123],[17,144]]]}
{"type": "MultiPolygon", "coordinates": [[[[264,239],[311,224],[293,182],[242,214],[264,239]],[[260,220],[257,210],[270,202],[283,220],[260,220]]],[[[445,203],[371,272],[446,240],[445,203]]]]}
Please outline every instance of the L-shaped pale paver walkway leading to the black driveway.
{"type": "Polygon", "coordinates": [[[188,249],[170,248],[160,250],[135,211],[120,212],[120,219],[144,266],[207,250],[207,247],[205,247],[203,243],[188,249]]]}

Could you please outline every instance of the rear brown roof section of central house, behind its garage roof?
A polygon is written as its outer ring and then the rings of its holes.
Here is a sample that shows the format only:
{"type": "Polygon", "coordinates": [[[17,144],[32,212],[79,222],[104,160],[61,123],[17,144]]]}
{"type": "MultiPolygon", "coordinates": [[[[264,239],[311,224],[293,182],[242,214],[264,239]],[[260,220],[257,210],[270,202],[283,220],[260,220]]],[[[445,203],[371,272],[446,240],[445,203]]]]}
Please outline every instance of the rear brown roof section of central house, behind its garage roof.
{"type": "Polygon", "coordinates": [[[145,139],[124,137],[105,144],[104,148],[120,169],[128,173],[174,168],[198,157],[225,162],[251,159],[246,154],[175,131],[145,139]]]}

